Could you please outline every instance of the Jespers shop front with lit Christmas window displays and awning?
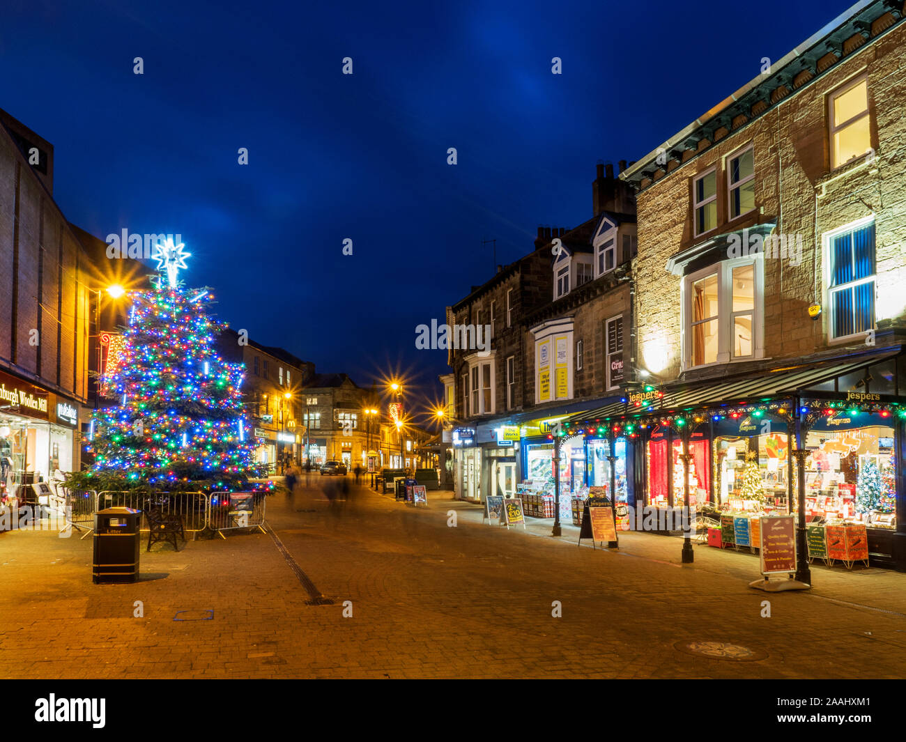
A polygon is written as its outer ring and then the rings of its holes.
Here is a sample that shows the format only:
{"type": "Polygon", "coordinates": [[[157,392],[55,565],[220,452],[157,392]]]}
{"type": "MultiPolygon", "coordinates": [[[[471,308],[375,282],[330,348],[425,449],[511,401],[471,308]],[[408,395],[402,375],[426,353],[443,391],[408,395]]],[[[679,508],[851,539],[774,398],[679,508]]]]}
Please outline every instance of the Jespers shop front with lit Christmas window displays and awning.
{"type": "MultiPolygon", "coordinates": [[[[566,420],[564,437],[593,426],[622,436],[634,459],[624,469],[633,499],[659,508],[688,504],[715,524],[713,545],[757,549],[759,518],[798,519],[802,477],[810,557],[906,571],[906,524],[898,522],[898,510],[900,520],[906,514],[903,392],[906,357],[889,350],[862,361],[674,382],[643,399],[629,389],[619,404],[566,420]],[[866,542],[864,554],[850,549],[866,542]]],[[[590,458],[602,460],[595,446],[590,458]]],[[[589,481],[602,481],[593,464],[589,481]]]]}

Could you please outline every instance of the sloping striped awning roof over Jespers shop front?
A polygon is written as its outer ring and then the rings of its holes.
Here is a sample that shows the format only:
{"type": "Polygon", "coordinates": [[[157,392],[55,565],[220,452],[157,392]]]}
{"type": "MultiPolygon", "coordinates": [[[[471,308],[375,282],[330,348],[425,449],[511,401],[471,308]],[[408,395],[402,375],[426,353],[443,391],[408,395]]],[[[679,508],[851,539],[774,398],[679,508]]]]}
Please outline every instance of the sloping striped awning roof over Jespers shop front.
{"type": "Polygon", "coordinates": [[[621,401],[595,410],[571,415],[564,422],[584,425],[616,419],[647,419],[697,410],[730,411],[735,407],[764,403],[781,404],[793,397],[827,398],[833,395],[861,395],[863,400],[897,400],[906,403],[906,378],[902,349],[863,355],[858,360],[803,362],[765,371],[748,371],[722,381],[713,379],[672,382],[651,387],[649,396],[638,402],[629,394],[621,401]],[[899,357],[899,361],[893,361],[899,357]],[[878,393],[875,390],[882,390],[878,393]],[[657,395],[657,396],[655,396],[657,395]]]}

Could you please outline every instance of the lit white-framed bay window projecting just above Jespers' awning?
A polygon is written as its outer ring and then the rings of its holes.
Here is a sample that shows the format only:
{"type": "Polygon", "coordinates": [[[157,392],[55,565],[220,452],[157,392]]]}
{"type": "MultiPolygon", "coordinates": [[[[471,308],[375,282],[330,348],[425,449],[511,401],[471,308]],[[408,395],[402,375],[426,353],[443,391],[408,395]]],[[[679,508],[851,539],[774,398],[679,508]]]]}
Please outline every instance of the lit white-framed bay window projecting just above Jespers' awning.
{"type": "Polygon", "coordinates": [[[764,262],[725,260],[683,280],[685,368],[764,357],[764,262]]]}

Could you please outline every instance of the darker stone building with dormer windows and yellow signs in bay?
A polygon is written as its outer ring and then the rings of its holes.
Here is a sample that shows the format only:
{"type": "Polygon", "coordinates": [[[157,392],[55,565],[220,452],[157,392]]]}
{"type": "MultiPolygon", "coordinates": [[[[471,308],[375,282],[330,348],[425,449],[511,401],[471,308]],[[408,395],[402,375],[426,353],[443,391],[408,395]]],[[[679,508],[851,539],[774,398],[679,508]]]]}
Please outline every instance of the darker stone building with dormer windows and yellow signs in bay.
{"type": "MultiPolygon", "coordinates": [[[[552,480],[549,426],[612,397],[629,367],[622,335],[631,322],[634,198],[612,165],[599,165],[596,176],[591,219],[570,230],[539,227],[532,253],[448,313],[451,323],[491,323],[484,351],[448,352],[460,497],[512,495],[525,478],[552,480]]],[[[583,450],[575,477],[583,486],[586,468],[583,450]]]]}

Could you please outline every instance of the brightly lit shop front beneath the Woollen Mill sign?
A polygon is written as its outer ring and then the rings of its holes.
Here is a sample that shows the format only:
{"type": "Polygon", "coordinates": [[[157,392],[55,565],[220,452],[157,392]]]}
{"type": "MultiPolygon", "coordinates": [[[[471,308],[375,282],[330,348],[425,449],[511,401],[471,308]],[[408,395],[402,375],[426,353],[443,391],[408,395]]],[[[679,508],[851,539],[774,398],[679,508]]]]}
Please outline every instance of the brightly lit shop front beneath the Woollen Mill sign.
{"type": "Polygon", "coordinates": [[[0,500],[79,466],[79,405],[0,372],[0,500]]]}

